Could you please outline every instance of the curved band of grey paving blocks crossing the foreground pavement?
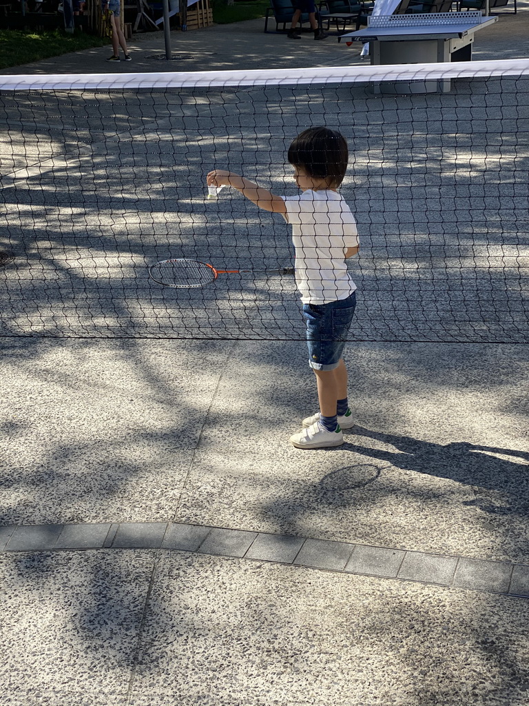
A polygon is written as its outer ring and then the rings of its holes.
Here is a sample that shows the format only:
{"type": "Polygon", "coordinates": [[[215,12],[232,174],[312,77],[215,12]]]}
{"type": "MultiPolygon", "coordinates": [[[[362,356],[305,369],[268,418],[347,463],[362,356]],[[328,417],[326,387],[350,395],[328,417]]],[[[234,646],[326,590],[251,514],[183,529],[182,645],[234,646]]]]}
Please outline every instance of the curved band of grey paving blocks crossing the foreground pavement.
{"type": "Polygon", "coordinates": [[[529,566],[179,522],[0,527],[0,552],[165,549],[529,598],[529,566]]]}

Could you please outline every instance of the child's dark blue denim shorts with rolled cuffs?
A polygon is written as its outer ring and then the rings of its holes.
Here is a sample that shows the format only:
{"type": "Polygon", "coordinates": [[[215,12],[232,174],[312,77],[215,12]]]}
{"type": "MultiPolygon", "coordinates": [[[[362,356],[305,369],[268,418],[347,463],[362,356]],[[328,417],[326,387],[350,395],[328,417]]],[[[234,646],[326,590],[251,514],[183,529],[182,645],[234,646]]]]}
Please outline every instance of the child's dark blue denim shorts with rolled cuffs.
{"type": "Polygon", "coordinates": [[[338,367],[355,313],[356,294],[329,304],[303,304],[309,365],[315,370],[338,367]]]}

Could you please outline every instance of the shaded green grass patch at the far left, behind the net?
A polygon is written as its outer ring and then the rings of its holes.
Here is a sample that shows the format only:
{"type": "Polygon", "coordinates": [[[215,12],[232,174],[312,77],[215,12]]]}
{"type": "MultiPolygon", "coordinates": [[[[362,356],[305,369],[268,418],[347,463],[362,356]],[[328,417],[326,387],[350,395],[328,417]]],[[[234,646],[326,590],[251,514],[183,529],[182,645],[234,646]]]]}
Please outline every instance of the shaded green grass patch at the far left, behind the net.
{"type": "Polygon", "coordinates": [[[90,47],[109,44],[108,38],[95,37],[86,32],[68,34],[63,30],[52,32],[23,32],[0,30],[0,68],[20,66],[30,61],[49,59],[68,52],[78,52],[90,47]]]}

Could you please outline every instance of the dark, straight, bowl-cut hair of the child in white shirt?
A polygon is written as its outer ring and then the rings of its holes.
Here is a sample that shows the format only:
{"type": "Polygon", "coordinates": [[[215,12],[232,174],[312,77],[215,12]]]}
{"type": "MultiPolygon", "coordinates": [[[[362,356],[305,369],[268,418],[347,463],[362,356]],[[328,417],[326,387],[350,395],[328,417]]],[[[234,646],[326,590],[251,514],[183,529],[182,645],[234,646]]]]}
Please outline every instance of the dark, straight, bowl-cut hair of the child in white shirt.
{"type": "Polygon", "coordinates": [[[343,181],[348,157],[346,138],[329,128],[304,130],[288,148],[293,167],[301,167],[308,177],[327,179],[330,188],[343,181]]]}

